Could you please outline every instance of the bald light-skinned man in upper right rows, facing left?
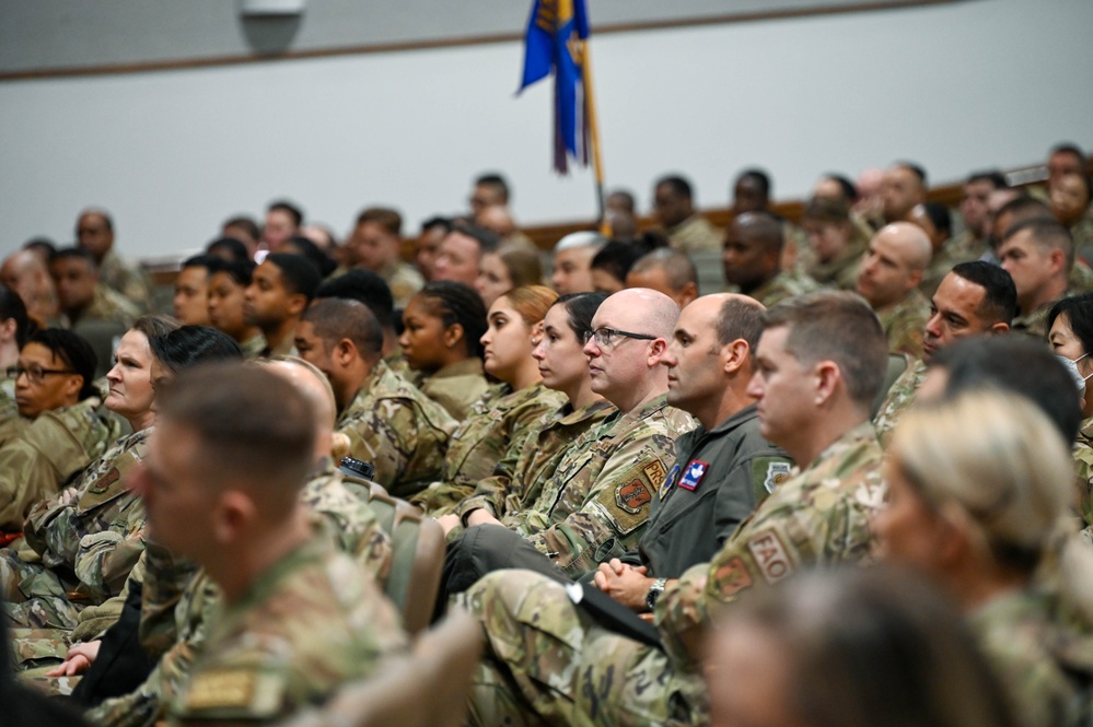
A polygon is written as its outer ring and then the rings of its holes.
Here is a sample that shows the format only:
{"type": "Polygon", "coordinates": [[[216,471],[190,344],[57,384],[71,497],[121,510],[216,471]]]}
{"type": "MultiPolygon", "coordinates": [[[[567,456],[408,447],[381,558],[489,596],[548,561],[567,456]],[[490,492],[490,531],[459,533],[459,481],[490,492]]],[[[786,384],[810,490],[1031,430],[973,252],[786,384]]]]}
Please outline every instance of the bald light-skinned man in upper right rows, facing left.
{"type": "Polygon", "coordinates": [[[930,263],[930,238],[917,225],[894,222],[869,241],[856,290],[881,319],[888,349],[922,357],[930,302],[919,291],[930,263]]]}

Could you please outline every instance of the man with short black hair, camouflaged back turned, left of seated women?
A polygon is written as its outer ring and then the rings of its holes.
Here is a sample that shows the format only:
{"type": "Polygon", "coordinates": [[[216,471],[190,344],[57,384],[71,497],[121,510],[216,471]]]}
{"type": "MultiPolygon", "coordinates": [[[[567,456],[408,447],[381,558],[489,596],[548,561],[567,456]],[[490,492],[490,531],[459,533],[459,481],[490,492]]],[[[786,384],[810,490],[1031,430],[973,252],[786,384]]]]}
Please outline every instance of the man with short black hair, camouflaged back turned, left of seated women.
{"type": "Polygon", "coordinates": [[[325,298],[295,331],[300,356],[326,374],[349,456],[375,466],[375,481],[406,497],[439,479],[456,422],[381,360],[383,331],[361,303],[325,298]]]}

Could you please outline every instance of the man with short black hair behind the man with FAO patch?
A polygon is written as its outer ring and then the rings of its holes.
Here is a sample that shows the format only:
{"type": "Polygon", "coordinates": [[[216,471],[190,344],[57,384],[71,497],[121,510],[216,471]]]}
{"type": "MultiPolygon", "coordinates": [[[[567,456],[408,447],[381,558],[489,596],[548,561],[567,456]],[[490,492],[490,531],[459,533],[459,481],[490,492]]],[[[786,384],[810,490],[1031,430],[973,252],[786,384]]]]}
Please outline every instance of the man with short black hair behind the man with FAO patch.
{"type": "Polygon", "coordinates": [[[933,294],[922,330],[922,360],[896,379],[873,419],[881,444],[887,444],[899,417],[915,402],[933,354],[957,339],[1009,331],[1016,309],[1013,279],[997,265],[976,260],[953,268],[933,294]]]}

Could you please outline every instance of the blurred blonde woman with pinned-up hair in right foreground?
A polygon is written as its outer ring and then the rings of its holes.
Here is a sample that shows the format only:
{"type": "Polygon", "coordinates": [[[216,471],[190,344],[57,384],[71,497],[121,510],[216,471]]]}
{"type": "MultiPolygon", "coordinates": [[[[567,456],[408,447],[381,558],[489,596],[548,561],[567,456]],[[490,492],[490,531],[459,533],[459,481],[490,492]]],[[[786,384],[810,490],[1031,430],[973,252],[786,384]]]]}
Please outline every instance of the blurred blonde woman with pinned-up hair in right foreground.
{"type": "Polygon", "coordinates": [[[1023,397],[966,391],[908,412],[888,454],[884,555],[956,598],[1022,724],[1089,724],[1093,554],[1067,533],[1058,429],[1023,397]]]}

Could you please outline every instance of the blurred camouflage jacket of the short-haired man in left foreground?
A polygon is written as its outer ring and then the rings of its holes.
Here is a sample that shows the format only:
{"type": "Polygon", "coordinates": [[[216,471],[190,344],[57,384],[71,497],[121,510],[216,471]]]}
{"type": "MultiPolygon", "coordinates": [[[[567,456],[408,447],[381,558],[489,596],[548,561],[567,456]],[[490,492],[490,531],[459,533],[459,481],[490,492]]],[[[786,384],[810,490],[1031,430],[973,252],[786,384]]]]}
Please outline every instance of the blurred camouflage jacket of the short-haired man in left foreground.
{"type": "Polygon", "coordinates": [[[283,718],[405,646],[375,583],[328,540],[312,538],[225,606],[171,702],[170,723],[283,718]]]}

